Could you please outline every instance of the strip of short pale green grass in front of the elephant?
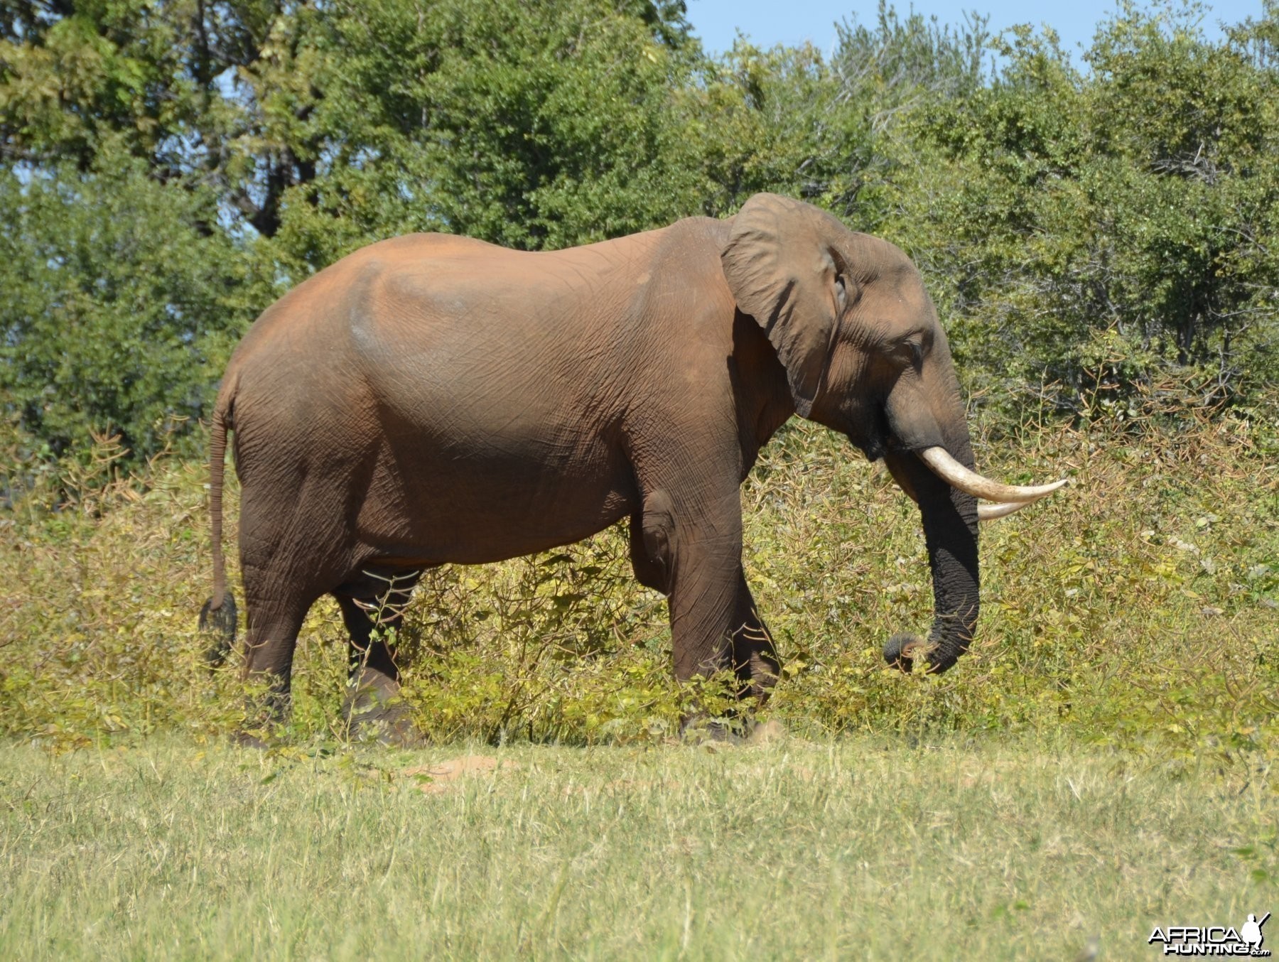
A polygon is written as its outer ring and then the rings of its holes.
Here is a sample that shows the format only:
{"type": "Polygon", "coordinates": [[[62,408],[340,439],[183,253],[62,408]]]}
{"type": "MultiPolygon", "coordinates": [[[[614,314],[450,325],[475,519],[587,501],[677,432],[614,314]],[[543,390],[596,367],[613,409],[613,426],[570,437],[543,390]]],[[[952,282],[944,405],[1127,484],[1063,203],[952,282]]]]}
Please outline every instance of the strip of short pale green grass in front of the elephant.
{"type": "Polygon", "coordinates": [[[1274,794],[1127,753],[475,751],[9,742],[0,954],[1154,958],[1275,904],[1274,794]]]}

